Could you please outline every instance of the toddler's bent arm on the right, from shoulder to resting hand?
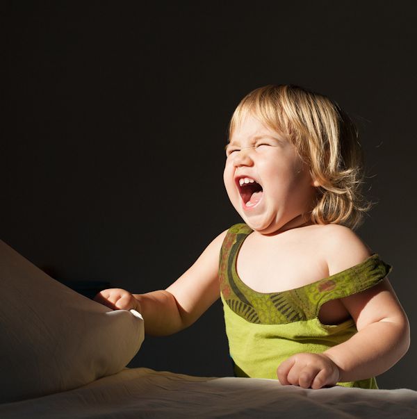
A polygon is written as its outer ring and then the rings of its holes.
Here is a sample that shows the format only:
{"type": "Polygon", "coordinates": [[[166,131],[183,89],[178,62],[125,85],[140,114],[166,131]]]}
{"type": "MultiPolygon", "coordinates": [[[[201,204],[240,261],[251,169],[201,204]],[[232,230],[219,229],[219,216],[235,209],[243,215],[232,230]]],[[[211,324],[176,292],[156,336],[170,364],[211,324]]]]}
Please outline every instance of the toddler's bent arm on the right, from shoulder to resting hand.
{"type": "MultiPolygon", "coordinates": [[[[342,233],[350,234],[353,233],[342,233]]],[[[330,274],[356,265],[369,256],[363,243],[353,236],[349,238],[343,240],[345,252],[336,252],[329,259],[330,274]],[[349,256],[346,258],[346,255],[349,256]]],[[[407,352],[409,322],[388,279],[340,301],[352,315],[357,334],[322,354],[291,356],[277,370],[281,384],[321,388],[336,382],[367,379],[389,370],[407,352]]]]}

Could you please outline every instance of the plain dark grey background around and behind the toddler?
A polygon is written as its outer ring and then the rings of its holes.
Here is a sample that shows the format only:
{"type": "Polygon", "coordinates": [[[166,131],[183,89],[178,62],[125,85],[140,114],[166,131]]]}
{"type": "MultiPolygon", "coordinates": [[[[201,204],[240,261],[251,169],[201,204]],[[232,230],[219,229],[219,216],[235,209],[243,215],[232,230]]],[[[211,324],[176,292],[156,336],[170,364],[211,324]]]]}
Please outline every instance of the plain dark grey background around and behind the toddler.
{"type": "MultiPolygon", "coordinates": [[[[329,95],[359,125],[359,229],[416,309],[413,1],[1,3],[1,237],[61,281],[166,288],[240,219],[222,184],[227,124],[261,85],[329,95]]],[[[379,378],[417,390],[416,347],[379,378]]],[[[231,375],[219,303],[147,338],[131,366],[231,375]]]]}

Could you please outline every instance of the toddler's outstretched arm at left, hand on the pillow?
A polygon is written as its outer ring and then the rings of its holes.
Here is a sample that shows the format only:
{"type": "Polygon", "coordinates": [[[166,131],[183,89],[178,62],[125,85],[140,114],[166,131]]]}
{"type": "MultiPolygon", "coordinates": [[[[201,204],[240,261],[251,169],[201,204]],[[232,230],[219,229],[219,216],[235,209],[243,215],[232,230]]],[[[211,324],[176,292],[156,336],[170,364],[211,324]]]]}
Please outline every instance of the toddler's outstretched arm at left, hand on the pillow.
{"type": "Polygon", "coordinates": [[[145,320],[145,332],[154,336],[174,334],[190,326],[220,297],[219,254],[226,233],[216,237],[166,290],[131,294],[113,288],[101,291],[95,300],[112,309],[136,309],[145,320]]]}

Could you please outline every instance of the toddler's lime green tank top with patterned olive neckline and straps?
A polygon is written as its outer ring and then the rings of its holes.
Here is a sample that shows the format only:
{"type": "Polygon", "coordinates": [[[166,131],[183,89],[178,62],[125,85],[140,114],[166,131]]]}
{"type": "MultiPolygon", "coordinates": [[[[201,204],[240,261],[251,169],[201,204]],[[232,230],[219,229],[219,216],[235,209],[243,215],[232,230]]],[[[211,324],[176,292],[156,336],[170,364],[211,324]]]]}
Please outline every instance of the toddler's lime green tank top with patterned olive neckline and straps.
{"type": "MultiPolygon", "coordinates": [[[[279,293],[259,293],[238,277],[236,258],[252,229],[236,224],[220,251],[220,291],[229,351],[237,377],[277,379],[279,364],[300,352],[321,353],[355,333],[352,318],[327,325],[318,320],[320,307],[332,299],[360,293],[378,284],[391,266],[373,254],[366,261],[320,281],[279,293]]],[[[375,377],[338,383],[378,388],[375,377]]]]}

